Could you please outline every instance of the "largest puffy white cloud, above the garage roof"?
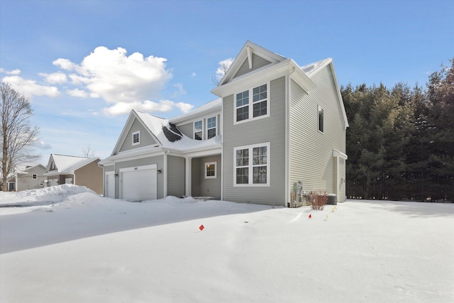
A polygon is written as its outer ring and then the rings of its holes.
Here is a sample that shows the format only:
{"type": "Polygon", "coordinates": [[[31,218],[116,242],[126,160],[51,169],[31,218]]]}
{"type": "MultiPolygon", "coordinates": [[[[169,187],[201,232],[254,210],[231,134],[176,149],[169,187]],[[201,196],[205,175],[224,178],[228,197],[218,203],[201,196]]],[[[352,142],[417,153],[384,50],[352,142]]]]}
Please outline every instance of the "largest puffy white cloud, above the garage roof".
{"type": "Polygon", "coordinates": [[[100,46],[79,65],[62,58],[53,64],[72,71],[71,84],[89,92],[90,97],[101,97],[123,108],[124,104],[158,97],[172,78],[170,70],[165,69],[165,62],[162,57],[143,57],[140,53],[128,56],[124,48],[109,50],[100,46]]]}

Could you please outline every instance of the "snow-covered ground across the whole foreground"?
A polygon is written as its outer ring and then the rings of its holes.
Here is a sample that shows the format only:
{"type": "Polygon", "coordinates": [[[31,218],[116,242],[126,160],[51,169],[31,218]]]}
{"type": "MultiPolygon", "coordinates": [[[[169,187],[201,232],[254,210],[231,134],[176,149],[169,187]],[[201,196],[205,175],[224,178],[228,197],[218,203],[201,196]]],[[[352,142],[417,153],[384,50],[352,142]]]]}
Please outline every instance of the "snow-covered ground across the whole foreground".
{"type": "Polygon", "coordinates": [[[2,303],[454,302],[454,204],[0,195],[2,303]]]}

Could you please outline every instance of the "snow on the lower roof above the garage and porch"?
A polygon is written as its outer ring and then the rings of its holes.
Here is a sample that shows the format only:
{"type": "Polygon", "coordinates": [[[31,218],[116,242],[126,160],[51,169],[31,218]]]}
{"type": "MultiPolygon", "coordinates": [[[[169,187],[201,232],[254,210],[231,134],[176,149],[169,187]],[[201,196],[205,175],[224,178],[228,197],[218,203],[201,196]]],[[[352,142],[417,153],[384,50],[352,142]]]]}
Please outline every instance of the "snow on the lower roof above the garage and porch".
{"type": "MultiPolygon", "coordinates": [[[[216,100],[214,100],[216,101],[216,100]]],[[[211,102],[209,102],[211,103],[211,102]]],[[[211,104],[213,105],[213,104],[211,104]]],[[[202,106],[201,106],[202,107],[202,106]]],[[[177,150],[191,150],[195,148],[203,148],[211,145],[217,145],[221,143],[221,136],[215,136],[209,140],[194,140],[185,136],[184,134],[178,134],[176,131],[172,131],[172,126],[168,119],[163,119],[151,114],[144,113],[143,111],[134,110],[138,118],[143,124],[155,135],[157,140],[161,143],[163,148],[173,148],[177,150]],[[165,128],[167,130],[165,131],[165,128]],[[181,137],[179,140],[173,140],[173,136],[170,137],[165,132],[171,132],[181,137]]],[[[174,137],[175,138],[175,137],[174,137]]]]}

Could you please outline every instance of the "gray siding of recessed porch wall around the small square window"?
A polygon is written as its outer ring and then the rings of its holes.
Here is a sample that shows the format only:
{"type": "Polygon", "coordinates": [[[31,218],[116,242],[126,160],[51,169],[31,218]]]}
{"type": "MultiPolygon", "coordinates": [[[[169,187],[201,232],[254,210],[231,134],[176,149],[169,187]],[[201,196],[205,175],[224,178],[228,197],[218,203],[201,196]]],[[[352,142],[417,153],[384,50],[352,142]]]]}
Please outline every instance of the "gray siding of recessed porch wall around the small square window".
{"type": "Polygon", "coordinates": [[[192,196],[221,199],[221,155],[192,159],[192,196]],[[205,179],[205,163],[216,162],[216,178],[205,179]]]}

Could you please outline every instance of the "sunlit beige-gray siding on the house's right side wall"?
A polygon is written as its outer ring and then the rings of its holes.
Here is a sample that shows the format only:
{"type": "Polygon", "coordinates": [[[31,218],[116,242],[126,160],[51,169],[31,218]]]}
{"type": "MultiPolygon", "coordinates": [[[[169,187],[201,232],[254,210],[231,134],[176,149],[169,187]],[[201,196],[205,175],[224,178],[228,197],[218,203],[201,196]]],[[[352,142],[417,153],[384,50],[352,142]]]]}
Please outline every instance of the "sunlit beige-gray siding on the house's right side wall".
{"type": "MultiPolygon", "coordinates": [[[[345,125],[338,103],[331,67],[325,67],[312,80],[316,89],[306,94],[295,82],[290,89],[290,184],[303,182],[303,190],[336,187],[333,148],[345,153],[345,125]],[[323,108],[324,130],[318,128],[318,106],[323,108]]],[[[345,179],[345,170],[343,170],[345,179]]],[[[342,177],[342,176],[341,176],[342,177]]]]}

